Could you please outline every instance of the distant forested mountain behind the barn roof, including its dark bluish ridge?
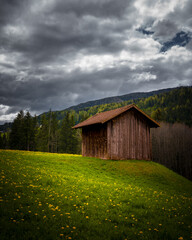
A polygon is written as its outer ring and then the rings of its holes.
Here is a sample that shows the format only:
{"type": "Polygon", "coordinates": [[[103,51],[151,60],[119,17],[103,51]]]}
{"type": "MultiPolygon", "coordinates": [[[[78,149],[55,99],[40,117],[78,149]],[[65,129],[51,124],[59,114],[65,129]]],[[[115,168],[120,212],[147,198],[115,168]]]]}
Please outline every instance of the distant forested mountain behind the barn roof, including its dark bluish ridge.
{"type": "MultiPolygon", "coordinates": [[[[191,125],[191,89],[192,87],[178,87],[151,92],[129,93],[122,96],[80,103],[61,111],[55,111],[55,113],[57,119],[61,121],[67,112],[73,112],[75,114],[75,122],[78,123],[97,112],[111,110],[134,102],[147,114],[152,115],[154,119],[158,120],[159,115],[161,115],[161,120],[167,122],[177,121],[191,125]]],[[[38,116],[39,122],[43,114],[47,113],[42,113],[38,116]]],[[[0,132],[6,132],[10,128],[11,123],[5,123],[4,125],[0,125],[0,132]]]]}

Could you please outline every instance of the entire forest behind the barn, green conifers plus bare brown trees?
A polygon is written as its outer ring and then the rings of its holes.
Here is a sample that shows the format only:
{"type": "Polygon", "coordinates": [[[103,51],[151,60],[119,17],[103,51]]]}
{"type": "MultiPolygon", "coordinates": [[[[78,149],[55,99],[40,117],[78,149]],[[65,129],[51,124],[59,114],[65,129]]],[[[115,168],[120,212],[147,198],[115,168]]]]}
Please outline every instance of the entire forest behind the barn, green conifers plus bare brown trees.
{"type": "Polygon", "coordinates": [[[186,149],[187,146],[192,145],[189,137],[192,134],[192,87],[180,87],[150,97],[94,105],[77,110],[74,108],[63,111],[50,110],[40,116],[31,116],[30,112],[21,110],[13,123],[8,125],[8,130],[1,133],[0,149],[80,154],[81,129],[73,130],[72,126],[96,113],[133,102],[153,119],[161,122],[161,128],[152,131],[153,160],[192,178],[191,163],[186,163],[192,159],[192,151],[190,148],[186,149]],[[167,127],[162,123],[170,125],[167,127]],[[176,134],[178,132],[179,135],[176,134]],[[166,148],[169,145],[170,147],[166,148]],[[164,162],[163,159],[169,159],[169,163],[167,160],[164,162]],[[179,167],[182,161],[186,163],[186,169],[179,167]]]}

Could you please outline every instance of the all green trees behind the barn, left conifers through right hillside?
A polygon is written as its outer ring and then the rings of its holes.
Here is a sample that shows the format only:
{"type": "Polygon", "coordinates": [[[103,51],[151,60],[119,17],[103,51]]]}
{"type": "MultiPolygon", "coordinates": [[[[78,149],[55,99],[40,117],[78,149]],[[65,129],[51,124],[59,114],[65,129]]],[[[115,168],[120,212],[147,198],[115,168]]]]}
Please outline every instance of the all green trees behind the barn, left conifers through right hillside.
{"type": "Polygon", "coordinates": [[[78,111],[50,110],[39,117],[20,111],[10,130],[0,134],[0,148],[80,153],[81,130],[72,130],[72,126],[96,113],[133,102],[157,121],[192,126],[192,87],[181,87],[147,98],[95,105],[78,111]]]}

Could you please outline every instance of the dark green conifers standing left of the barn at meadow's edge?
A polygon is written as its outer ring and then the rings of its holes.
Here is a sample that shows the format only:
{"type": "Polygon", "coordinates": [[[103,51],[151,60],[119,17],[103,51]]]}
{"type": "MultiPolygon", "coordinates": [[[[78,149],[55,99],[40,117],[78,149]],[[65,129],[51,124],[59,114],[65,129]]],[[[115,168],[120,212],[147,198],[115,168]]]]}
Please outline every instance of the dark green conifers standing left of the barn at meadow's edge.
{"type": "Polygon", "coordinates": [[[81,133],[73,130],[73,114],[67,112],[62,121],[51,110],[40,119],[20,111],[10,131],[0,135],[1,149],[17,149],[55,153],[80,153],[81,133]]]}

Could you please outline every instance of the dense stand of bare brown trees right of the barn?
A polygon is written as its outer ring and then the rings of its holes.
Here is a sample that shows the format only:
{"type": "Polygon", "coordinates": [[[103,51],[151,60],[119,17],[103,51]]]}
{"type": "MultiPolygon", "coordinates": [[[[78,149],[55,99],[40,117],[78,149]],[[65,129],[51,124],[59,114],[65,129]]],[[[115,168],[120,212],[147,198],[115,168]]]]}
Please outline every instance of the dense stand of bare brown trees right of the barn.
{"type": "Polygon", "coordinates": [[[161,122],[151,136],[153,161],[192,180],[192,127],[161,122]]]}

